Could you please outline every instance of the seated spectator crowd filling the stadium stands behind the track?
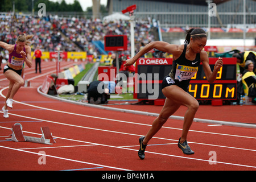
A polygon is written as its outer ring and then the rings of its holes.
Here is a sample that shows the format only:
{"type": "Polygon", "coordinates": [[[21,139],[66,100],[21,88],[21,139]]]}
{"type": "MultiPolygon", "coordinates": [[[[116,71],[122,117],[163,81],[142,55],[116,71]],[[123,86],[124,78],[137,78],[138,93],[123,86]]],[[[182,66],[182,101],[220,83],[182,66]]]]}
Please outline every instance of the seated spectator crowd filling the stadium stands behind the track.
{"type": "MultiPolygon", "coordinates": [[[[101,40],[105,35],[127,35],[130,44],[129,21],[103,22],[100,19],[59,18],[58,16],[32,17],[27,15],[0,14],[0,41],[15,44],[18,35],[34,35],[31,49],[40,46],[42,51],[85,51],[88,55],[99,55],[100,52],[92,43],[101,40]]],[[[148,20],[136,22],[135,52],[139,51],[141,42],[154,40],[154,26],[148,20]]],[[[130,46],[128,46],[130,47],[130,46]]],[[[7,52],[1,51],[6,59],[7,52]]]]}

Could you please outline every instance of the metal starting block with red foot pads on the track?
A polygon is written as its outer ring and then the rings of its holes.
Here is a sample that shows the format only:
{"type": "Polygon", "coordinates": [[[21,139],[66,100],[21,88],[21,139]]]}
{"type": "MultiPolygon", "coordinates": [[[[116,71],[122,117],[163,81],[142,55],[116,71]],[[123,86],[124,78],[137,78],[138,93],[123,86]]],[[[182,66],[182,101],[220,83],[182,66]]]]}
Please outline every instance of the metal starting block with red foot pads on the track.
{"type": "Polygon", "coordinates": [[[56,143],[52,137],[52,133],[49,131],[49,127],[41,127],[41,138],[24,136],[22,133],[22,125],[20,125],[20,123],[15,123],[11,131],[13,131],[11,134],[11,140],[14,142],[34,142],[42,144],[56,143]]]}

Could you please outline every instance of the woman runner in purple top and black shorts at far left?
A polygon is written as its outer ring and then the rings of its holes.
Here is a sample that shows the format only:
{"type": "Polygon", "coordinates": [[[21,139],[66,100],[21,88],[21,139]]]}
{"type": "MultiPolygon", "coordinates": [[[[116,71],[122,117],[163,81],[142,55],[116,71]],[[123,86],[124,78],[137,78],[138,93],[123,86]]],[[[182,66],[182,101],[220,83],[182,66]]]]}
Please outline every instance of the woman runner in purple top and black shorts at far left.
{"type": "Polygon", "coordinates": [[[33,35],[19,35],[15,45],[10,45],[0,42],[0,46],[9,51],[9,60],[3,68],[3,75],[10,81],[9,90],[3,106],[3,117],[9,118],[7,107],[13,108],[13,97],[18,92],[19,88],[24,85],[24,80],[21,77],[23,63],[28,67],[32,66],[31,48],[28,46],[33,35]]]}

